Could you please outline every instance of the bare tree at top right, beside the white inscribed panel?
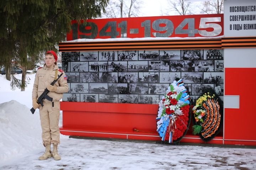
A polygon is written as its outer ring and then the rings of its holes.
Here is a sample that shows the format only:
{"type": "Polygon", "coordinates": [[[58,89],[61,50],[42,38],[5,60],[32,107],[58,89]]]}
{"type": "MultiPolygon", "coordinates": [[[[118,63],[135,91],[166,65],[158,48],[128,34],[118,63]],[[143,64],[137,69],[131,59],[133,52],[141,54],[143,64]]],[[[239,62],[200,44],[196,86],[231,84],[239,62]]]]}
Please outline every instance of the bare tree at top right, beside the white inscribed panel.
{"type": "Polygon", "coordinates": [[[224,0],[204,1],[202,13],[223,13],[224,0]]]}

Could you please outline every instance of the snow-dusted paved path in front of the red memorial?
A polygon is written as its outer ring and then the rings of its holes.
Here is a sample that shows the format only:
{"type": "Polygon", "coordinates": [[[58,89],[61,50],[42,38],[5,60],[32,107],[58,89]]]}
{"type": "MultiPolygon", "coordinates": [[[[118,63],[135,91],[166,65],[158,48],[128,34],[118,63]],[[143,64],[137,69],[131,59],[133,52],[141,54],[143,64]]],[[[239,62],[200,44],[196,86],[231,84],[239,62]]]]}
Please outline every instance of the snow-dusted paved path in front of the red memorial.
{"type": "Polygon", "coordinates": [[[62,159],[40,161],[44,147],[12,160],[1,170],[256,169],[256,149],[161,145],[64,138],[62,159]]]}

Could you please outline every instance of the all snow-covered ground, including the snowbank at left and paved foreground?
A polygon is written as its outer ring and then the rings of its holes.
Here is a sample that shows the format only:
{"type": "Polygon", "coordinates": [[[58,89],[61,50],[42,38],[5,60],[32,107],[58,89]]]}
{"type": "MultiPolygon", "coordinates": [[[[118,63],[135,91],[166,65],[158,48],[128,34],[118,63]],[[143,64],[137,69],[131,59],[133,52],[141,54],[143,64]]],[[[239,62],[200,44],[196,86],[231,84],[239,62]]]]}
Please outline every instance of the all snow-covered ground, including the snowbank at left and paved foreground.
{"type": "Polygon", "coordinates": [[[64,135],[59,146],[61,160],[38,160],[44,147],[38,109],[30,112],[34,76],[28,74],[30,84],[20,92],[11,91],[10,82],[0,75],[1,170],[256,169],[256,149],[252,148],[82,140],[64,135]]]}

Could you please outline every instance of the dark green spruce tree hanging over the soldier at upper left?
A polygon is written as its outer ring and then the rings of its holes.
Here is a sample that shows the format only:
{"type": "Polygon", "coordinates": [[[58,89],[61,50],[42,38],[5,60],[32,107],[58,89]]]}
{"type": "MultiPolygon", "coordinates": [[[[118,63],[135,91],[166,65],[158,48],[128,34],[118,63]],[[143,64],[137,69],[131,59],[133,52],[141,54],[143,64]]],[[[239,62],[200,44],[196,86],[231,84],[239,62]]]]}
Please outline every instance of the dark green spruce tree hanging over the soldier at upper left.
{"type": "MultiPolygon", "coordinates": [[[[48,50],[56,50],[71,29],[71,20],[101,16],[108,0],[6,0],[0,3],[0,67],[22,66],[22,80],[12,85],[26,87],[26,71],[48,50]]],[[[8,76],[6,74],[6,76],[8,76]]],[[[7,78],[8,79],[8,78],[7,78]]]]}

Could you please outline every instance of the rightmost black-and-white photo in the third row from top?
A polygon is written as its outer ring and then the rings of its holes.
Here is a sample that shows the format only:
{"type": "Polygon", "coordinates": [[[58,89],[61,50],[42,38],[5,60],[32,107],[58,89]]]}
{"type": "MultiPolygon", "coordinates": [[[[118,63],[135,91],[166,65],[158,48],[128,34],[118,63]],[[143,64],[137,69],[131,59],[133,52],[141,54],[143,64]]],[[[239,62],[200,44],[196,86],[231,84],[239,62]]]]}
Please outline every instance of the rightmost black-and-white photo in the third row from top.
{"type": "MultiPolygon", "coordinates": [[[[224,73],[223,72],[207,72],[204,73],[204,84],[214,84],[214,83],[224,83],[224,73]]],[[[239,80],[239,77],[238,77],[239,80]]]]}

